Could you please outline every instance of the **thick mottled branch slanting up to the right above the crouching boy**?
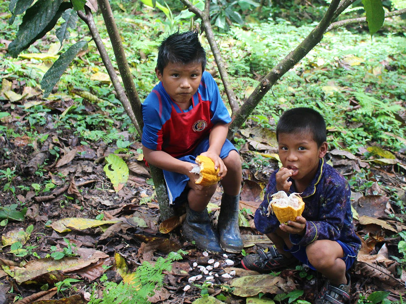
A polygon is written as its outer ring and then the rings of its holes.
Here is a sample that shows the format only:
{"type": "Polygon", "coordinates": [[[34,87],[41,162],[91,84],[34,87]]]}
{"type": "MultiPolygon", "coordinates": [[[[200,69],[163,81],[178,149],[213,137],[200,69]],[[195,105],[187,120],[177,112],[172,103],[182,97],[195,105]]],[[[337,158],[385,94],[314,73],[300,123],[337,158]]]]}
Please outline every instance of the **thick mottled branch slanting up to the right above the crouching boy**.
{"type": "Polygon", "coordinates": [[[263,96],[282,77],[282,75],[297,64],[321,41],[324,31],[330,25],[335,10],[339,4],[340,0],[332,0],[320,23],[292,52],[290,52],[262,79],[254,92],[248,97],[236,113],[235,119],[230,125],[228,137],[232,136],[232,134],[243,125],[259,101],[261,101],[263,96]]]}

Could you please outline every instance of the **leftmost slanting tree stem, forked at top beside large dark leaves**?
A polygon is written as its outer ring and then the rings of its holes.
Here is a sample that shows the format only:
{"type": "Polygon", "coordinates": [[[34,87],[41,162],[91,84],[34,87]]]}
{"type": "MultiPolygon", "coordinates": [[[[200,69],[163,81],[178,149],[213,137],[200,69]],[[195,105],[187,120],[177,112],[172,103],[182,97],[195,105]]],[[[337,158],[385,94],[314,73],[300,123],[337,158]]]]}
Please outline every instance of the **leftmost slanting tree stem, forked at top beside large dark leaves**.
{"type": "Polygon", "coordinates": [[[117,97],[121,101],[125,109],[125,112],[130,118],[132,124],[134,125],[134,127],[136,127],[137,132],[141,135],[142,131],[140,129],[140,126],[138,125],[136,116],[134,115],[134,112],[131,109],[131,105],[128,101],[127,95],[125,95],[124,89],[120,83],[120,80],[118,79],[116,71],[114,70],[110,57],[107,54],[105,45],[103,44],[103,41],[101,41],[100,34],[97,30],[96,24],[94,23],[92,12],[87,6],[85,6],[85,12],[86,14],[84,14],[82,11],[78,11],[78,16],[86,23],[87,27],[89,28],[90,34],[92,35],[93,41],[96,44],[101,60],[103,61],[103,64],[105,65],[107,72],[110,76],[113,87],[117,92],[117,97]]]}

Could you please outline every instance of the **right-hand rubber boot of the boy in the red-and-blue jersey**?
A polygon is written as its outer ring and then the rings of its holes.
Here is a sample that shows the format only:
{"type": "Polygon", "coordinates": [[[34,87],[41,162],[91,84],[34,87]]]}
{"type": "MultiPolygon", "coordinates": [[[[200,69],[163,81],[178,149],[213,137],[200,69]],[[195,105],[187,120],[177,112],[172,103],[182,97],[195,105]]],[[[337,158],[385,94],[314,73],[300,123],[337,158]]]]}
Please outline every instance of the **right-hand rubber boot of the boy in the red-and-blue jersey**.
{"type": "Polygon", "coordinates": [[[221,198],[218,228],[220,246],[226,252],[240,253],[243,249],[243,240],[238,225],[240,195],[223,194],[221,198]]]}

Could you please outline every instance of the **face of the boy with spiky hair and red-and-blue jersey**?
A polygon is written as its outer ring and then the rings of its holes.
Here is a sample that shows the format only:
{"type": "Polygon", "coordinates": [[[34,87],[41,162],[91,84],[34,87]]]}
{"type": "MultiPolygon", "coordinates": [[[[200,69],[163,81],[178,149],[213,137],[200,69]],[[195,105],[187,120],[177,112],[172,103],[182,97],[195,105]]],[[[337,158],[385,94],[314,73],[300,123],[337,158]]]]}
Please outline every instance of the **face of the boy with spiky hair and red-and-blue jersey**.
{"type": "Polygon", "coordinates": [[[201,80],[201,63],[168,63],[161,73],[155,68],[158,79],[171,98],[182,108],[187,109],[201,80]]]}

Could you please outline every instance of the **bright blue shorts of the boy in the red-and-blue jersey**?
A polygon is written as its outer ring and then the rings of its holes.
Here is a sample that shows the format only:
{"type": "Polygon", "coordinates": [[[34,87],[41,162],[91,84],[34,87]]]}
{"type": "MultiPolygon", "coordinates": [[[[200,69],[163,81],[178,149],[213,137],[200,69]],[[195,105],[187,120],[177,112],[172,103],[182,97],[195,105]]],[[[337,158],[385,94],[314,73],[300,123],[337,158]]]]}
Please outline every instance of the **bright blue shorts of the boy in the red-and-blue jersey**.
{"type": "MultiPolygon", "coordinates": [[[[178,160],[195,164],[196,156],[206,152],[209,149],[209,137],[203,139],[193,150],[192,154],[177,158],[178,160]]],[[[220,158],[224,159],[228,156],[231,150],[237,151],[234,145],[226,139],[220,151],[220,158]]],[[[185,187],[189,181],[189,177],[185,174],[163,170],[165,177],[166,188],[170,205],[180,204],[187,199],[187,191],[185,187]]]]}

